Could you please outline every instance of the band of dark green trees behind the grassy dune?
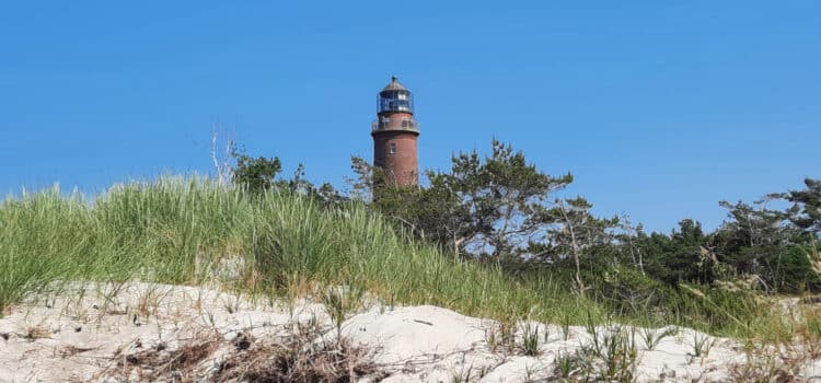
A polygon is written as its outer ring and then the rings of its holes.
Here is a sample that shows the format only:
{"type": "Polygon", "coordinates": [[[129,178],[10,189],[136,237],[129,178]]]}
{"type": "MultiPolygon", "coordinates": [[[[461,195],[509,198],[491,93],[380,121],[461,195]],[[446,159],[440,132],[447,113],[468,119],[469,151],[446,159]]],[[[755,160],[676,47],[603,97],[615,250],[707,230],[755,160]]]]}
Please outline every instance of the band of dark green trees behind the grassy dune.
{"type": "Polygon", "coordinates": [[[754,202],[720,201],[728,218],[713,232],[683,219],[671,233],[647,233],[627,216],[594,216],[583,197],[560,197],[558,192],[573,182],[570,174],[547,174],[497,140],[488,155],[462,152],[452,158],[450,170],[425,172],[419,187],[391,186],[379,169],[354,158],[356,176],[344,193],[308,182],[302,165],[288,179],[278,177],[276,158],[234,152],[234,184],[258,193],[287,188],[329,208],[361,200],[446,254],[525,278],[566,277],[579,294],[631,302],[682,283],[784,293],[821,289],[817,179],[754,202]],[[374,190],[374,185],[380,187],[374,190]]]}

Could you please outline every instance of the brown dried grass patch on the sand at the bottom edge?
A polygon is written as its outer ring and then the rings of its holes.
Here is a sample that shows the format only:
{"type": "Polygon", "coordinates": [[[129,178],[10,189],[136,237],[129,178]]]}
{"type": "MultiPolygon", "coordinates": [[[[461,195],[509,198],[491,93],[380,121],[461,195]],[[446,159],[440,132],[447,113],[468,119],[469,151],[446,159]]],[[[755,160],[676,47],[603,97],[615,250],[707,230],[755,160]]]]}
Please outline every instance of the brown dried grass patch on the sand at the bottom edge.
{"type": "Polygon", "coordinates": [[[112,364],[96,378],[278,383],[355,382],[365,376],[378,382],[386,376],[372,361],[371,351],[345,338],[325,337],[327,328],[294,324],[288,329],[264,341],[250,334],[240,334],[229,341],[213,329],[197,329],[176,348],[158,344],[132,353],[117,352],[112,364]]]}

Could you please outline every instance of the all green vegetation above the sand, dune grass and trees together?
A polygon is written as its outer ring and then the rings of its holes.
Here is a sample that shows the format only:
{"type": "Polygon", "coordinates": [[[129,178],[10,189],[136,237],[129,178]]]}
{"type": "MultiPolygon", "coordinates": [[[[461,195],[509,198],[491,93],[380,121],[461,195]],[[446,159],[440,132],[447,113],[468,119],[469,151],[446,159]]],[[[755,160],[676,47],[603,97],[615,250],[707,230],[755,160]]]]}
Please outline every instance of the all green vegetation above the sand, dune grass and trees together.
{"type": "Polygon", "coordinates": [[[760,290],[821,288],[812,179],[770,197],[795,204],[785,211],[767,200],[720,202],[728,220],[715,232],[684,219],[666,234],[595,217],[580,196],[556,198],[570,174],[553,177],[497,140],[489,155],[463,152],[449,171],[428,171],[423,187],[381,182],[354,158],[348,195],[316,187],[301,164],[285,179],[276,156],[234,158],[235,187],[163,178],[93,202],[56,189],[7,199],[0,311],[56,280],[199,282],[229,257],[246,265],[235,288],[253,292],[347,286],[502,318],[550,307],[534,320],[565,326],[593,312],[750,335],[782,326],[760,290]]]}

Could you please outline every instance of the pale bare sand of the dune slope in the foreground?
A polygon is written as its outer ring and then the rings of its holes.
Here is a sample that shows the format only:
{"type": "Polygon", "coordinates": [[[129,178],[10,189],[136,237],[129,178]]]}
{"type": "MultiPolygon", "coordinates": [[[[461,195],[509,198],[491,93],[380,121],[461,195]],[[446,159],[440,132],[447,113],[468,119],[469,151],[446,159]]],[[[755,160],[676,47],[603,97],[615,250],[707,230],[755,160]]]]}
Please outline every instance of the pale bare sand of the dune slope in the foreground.
{"type": "MultiPolygon", "coordinates": [[[[53,297],[39,294],[0,320],[0,382],[117,381],[112,378],[118,375],[116,369],[140,350],[160,344],[174,350],[217,334],[219,346],[196,368],[197,380],[206,380],[238,337],[247,334],[263,341],[291,330],[294,321],[327,326],[325,337],[336,332],[324,307],[308,301],[248,302],[205,288],[148,283],[74,286],[53,297]]],[[[542,352],[525,357],[516,349],[489,349],[488,334],[496,326],[441,307],[374,305],[349,317],[343,334],[373,350],[372,358],[390,373],[384,382],[545,380],[557,355],[591,341],[583,327],[570,327],[565,336],[557,326],[532,323],[540,329],[542,352]]],[[[709,338],[715,345],[706,357],[692,357],[697,337],[707,335],[682,328],[648,350],[636,335],[638,381],[724,381],[728,363],[744,361],[731,341],[718,338],[709,338]]],[[[805,374],[821,374],[818,367],[807,365],[805,374]]],[[[139,380],[135,373],[120,375],[139,380]]]]}

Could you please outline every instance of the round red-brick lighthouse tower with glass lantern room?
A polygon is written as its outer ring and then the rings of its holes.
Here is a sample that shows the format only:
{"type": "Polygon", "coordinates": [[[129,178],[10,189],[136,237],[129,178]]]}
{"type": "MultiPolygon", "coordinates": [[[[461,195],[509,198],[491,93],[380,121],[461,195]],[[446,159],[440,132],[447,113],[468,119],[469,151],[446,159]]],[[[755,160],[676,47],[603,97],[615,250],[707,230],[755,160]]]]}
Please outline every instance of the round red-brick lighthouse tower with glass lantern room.
{"type": "Polygon", "coordinates": [[[371,124],[373,165],[396,186],[417,185],[419,126],[414,119],[414,96],[396,77],[379,92],[377,120],[371,124]]]}

